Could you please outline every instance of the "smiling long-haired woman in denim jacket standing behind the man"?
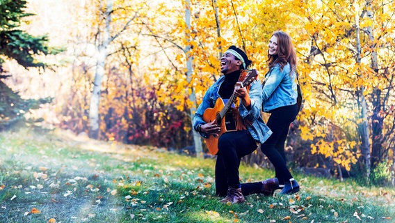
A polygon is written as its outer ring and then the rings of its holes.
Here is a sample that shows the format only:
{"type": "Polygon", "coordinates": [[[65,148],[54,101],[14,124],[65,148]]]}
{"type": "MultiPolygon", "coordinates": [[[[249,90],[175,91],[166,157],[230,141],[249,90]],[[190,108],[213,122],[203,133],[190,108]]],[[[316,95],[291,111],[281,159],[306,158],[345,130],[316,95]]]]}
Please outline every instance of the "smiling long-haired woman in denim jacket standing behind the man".
{"type": "Polygon", "coordinates": [[[293,194],[299,191],[299,185],[287,169],[284,151],[289,125],[298,114],[296,98],[296,53],[291,37],[283,31],[275,31],[268,44],[269,72],[265,76],[262,89],[262,110],[271,113],[268,128],[273,132],[261,151],[275,167],[280,194],[293,194]]]}

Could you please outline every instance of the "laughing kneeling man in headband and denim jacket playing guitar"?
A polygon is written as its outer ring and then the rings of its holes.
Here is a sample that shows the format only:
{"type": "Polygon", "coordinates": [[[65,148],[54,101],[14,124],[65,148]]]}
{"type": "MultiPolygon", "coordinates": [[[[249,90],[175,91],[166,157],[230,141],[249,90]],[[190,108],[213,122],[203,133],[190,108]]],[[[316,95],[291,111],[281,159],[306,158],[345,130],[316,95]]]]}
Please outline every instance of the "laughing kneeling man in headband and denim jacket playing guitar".
{"type": "Polygon", "coordinates": [[[278,187],[277,178],[263,182],[239,182],[239,166],[241,158],[255,151],[258,144],[263,144],[271,135],[271,130],[261,118],[262,88],[259,80],[250,86],[240,86],[245,78],[244,72],[252,61],[243,50],[231,46],[220,59],[221,76],[209,87],[204,94],[202,103],[193,118],[193,128],[202,137],[218,138],[218,153],[216,160],[216,194],[225,196],[220,202],[242,203],[243,195],[262,193],[273,194],[278,187]],[[220,134],[221,127],[216,120],[205,122],[203,115],[206,109],[213,108],[218,98],[228,100],[232,95],[237,98],[229,115],[225,116],[226,123],[234,123],[234,131],[220,134]]]}

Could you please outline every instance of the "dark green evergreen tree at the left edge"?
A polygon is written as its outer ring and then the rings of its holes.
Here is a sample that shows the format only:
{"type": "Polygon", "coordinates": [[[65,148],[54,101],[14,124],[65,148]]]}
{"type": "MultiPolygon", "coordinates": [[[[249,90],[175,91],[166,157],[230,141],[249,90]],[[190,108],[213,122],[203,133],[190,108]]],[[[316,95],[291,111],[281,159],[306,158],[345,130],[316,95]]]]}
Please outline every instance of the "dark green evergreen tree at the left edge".
{"type": "Polygon", "coordinates": [[[44,69],[47,64],[35,60],[34,56],[56,54],[61,51],[47,46],[47,36],[31,36],[19,29],[21,20],[33,15],[25,13],[25,8],[26,1],[23,0],[0,0],[0,130],[9,128],[13,123],[26,121],[26,112],[52,101],[52,98],[24,100],[1,81],[8,77],[4,75],[4,59],[15,59],[26,69],[44,69]]]}

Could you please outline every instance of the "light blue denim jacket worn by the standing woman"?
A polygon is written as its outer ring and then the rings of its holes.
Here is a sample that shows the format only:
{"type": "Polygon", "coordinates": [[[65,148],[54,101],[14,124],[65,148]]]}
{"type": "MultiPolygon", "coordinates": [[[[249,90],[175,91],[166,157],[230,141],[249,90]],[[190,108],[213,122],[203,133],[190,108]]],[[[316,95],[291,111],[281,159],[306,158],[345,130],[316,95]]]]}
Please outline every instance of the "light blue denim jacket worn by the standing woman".
{"type": "Polygon", "coordinates": [[[287,63],[280,70],[277,64],[266,74],[266,83],[262,89],[262,110],[270,112],[277,107],[295,105],[298,91],[296,90],[297,79],[295,71],[287,63]]]}

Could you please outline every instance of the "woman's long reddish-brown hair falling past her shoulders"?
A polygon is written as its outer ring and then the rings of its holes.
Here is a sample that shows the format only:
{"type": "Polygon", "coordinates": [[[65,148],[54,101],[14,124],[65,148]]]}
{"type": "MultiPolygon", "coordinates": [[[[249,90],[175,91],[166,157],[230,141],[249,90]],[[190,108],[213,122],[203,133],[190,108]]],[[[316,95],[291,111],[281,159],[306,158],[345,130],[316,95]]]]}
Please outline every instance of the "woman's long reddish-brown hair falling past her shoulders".
{"type": "Polygon", "coordinates": [[[269,68],[273,68],[278,63],[280,70],[282,70],[289,63],[291,70],[296,71],[296,53],[291,37],[283,31],[275,31],[273,36],[277,37],[277,54],[268,54],[269,68]]]}

